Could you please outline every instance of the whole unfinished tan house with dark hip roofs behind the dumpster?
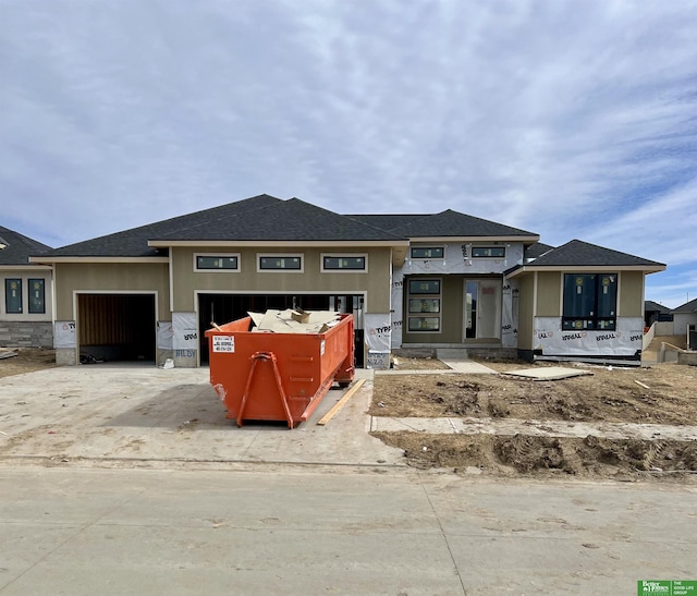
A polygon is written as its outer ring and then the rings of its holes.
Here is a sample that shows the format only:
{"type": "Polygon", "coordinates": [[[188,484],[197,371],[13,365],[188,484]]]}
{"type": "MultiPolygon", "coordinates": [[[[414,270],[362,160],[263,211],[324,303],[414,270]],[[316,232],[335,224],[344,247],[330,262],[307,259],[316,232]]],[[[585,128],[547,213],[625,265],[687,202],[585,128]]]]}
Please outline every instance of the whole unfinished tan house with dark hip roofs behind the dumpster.
{"type": "Polygon", "coordinates": [[[538,241],[450,209],[345,216],[259,195],[33,261],[54,268],[62,364],[88,353],[198,366],[208,360],[211,321],[286,307],[353,313],[357,345],[367,349],[358,365],[399,348],[563,356],[572,343],[557,350],[534,338],[552,324],[559,337],[570,328],[594,341],[614,335],[602,346],[582,342],[573,355],[640,357],[644,275],[664,266],[578,241],[560,248],[538,241]],[[576,294],[565,302],[567,273],[584,280],[580,302],[576,294]],[[602,316],[595,302],[588,312],[591,283],[602,316]]]}

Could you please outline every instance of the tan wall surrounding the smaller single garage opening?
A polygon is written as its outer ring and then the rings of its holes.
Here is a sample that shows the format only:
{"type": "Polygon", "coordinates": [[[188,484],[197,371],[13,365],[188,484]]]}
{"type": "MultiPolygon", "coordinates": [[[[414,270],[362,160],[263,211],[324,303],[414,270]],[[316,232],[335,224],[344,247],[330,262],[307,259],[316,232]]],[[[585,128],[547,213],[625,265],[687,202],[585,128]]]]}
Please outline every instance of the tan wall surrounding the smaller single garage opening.
{"type": "Polygon", "coordinates": [[[171,320],[167,263],[56,264],[57,320],[74,320],[73,292],[158,292],[158,317],[171,320]]]}

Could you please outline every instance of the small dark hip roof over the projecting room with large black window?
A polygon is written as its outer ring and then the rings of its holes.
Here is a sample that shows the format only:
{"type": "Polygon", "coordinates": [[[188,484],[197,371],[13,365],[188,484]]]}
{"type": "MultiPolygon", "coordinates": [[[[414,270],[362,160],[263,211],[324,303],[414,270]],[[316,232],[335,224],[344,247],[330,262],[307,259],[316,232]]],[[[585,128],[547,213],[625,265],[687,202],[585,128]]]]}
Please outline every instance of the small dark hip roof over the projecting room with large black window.
{"type": "Polygon", "coordinates": [[[530,265],[534,267],[665,267],[664,264],[656,260],[648,260],[611,248],[604,248],[580,240],[572,240],[566,244],[562,244],[535,259],[530,265]]]}

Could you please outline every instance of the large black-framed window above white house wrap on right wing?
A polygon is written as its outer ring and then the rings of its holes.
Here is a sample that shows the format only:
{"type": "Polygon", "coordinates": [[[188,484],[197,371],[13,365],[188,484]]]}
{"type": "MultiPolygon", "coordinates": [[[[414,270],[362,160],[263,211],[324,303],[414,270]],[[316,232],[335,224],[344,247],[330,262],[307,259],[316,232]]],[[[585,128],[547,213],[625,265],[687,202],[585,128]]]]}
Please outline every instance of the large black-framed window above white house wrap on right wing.
{"type": "Polygon", "coordinates": [[[565,273],[562,329],[614,331],[616,273],[565,273]]]}

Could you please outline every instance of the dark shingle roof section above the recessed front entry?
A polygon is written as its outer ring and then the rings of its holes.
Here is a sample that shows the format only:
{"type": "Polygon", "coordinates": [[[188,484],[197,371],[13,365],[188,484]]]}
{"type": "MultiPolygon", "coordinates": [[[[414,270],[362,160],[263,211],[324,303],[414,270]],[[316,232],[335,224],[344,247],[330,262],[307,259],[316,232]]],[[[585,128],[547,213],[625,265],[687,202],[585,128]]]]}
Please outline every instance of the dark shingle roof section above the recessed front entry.
{"type": "Polygon", "coordinates": [[[393,234],[405,238],[537,236],[519,228],[468,216],[452,209],[435,215],[348,216],[371,226],[389,226],[393,234]]]}

